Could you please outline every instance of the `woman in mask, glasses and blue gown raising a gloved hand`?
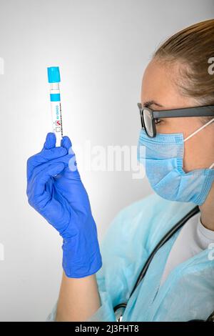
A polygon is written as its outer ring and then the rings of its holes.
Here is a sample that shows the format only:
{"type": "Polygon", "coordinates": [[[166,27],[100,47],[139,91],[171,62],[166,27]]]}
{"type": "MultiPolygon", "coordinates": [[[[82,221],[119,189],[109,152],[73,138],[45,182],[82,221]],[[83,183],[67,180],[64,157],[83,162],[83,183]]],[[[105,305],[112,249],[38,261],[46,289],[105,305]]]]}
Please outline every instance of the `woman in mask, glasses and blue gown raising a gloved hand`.
{"type": "Polygon", "coordinates": [[[206,320],[213,312],[213,42],[211,19],[179,31],[153,54],[138,104],[138,160],[155,193],[121,209],[101,250],[70,139],[56,148],[49,133],[28,160],[29,204],[63,237],[61,290],[48,320],[116,321],[113,307],[127,302],[156,244],[195,204],[200,211],[156,252],[123,321],[206,320]]]}

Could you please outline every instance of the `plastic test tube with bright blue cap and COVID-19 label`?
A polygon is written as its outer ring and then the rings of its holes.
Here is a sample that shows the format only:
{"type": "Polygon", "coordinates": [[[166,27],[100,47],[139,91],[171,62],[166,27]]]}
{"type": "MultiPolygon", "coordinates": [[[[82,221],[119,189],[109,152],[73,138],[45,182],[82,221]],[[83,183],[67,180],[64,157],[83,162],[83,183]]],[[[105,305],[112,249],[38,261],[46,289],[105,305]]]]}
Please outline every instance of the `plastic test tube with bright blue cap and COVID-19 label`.
{"type": "Polygon", "coordinates": [[[63,137],[62,118],[61,118],[61,99],[60,99],[60,73],[58,66],[49,66],[48,78],[50,83],[50,99],[53,132],[56,134],[56,147],[61,146],[63,137]]]}

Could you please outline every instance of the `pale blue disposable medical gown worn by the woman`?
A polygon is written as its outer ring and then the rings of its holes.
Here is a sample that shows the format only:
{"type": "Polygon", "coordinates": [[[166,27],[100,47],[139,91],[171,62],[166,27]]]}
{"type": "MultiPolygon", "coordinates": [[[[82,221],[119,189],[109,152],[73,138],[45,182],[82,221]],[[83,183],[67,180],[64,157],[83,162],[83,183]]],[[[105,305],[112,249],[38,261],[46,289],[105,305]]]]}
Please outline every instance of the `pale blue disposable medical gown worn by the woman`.
{"type": "MultiPolygon", "coordinates": [[[[96,273],[101,307],[86,320],[116,321],[113,307],[127,302],[156,244],[195,204],[150,194],[121,209],[100,242],[103,266],[96,273]]],[[[156,252],[146,276],[128,301],[123,321],[207,319],[214,310],[214,247],[175,267],[160,285],[180,229],[156,252]]],[[[57,304],[57,302],[56,302],[57,304]]],[[[56,305],[46,321],[54,321],[56,305]]]]}

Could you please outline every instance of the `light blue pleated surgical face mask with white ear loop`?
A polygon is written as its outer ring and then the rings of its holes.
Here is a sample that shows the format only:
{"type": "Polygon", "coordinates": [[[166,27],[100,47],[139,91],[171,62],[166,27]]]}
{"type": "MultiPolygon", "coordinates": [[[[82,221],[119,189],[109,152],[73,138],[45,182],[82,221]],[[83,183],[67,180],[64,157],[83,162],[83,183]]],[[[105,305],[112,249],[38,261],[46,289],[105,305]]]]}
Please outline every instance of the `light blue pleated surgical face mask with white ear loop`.
{"type": "Polygon", "coordinates": [[[138,162],[145,167],[151,187],[158,195],[170,201],[193,202],[198,205],[205,202],[214,181],[214,169],[211,169],[214,163],[209,168],[184,172],[184,142],[213,120],[214,118],[186,139],[183,139],[182,133],[158,133],[151,138],[141,129],[138,162]]]}

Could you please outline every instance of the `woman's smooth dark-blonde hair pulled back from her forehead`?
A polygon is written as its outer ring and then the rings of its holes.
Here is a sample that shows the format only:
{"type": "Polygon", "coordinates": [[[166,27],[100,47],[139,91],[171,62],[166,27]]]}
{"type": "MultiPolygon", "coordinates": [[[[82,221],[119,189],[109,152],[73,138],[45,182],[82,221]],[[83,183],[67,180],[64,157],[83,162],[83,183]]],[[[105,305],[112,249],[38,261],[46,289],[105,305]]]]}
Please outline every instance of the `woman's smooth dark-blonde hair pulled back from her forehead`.
{"type": "Polygon", "coordinates": [[[178,31],[152,55],[152,59],[165,66],[179,62],[175,84],[181,94],[195,98],[200,105],[214,105],[214,74],[208,71],[211,57],[214,57],[214,19],[178,31]]]}

